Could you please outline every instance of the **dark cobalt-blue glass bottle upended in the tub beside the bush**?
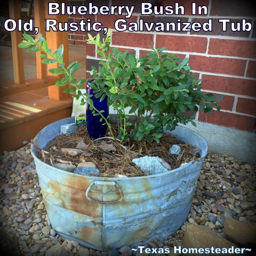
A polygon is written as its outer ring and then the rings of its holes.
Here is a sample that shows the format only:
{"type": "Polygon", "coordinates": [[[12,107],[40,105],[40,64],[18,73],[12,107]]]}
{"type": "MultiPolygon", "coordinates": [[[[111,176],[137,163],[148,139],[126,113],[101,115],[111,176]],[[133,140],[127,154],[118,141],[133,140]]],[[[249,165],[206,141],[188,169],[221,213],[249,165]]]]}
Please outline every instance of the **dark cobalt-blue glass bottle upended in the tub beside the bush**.
{"type": "MultiPolygon", "coordinates": [[[[93,83],[93,81],[90,81],[90,83],[93,83]]],[[[108,97],[106,95],[105,99],[102,100],[100,102],[100,98],[95,98],[94,93],[93,93],[93,89],[91,89],[91,87],[89,86],[89,84],[87,83],[87,93],[89,95],[93,95],[91,97],[92,101],[93,101],[93,106],[95,108],[97,108],[98,110],[104,110],[103,113],[101,113],[104,117],[107,118],[109,110],[108,110],[108,97]]],[[[89,109],[89,104],[86,103],[86,127],[87,127],[87,131],[90,135],[90,137],[92,139],[98,139],[101,137],[104,137],[108,126],[107,124],[105,124],[105,121],[102,120],[100,122],[100,118],[101,116],[94,116],[92,114],[92,110],[89,109]],[[103,125],[105,124],[105,125],[103,125]]]]}

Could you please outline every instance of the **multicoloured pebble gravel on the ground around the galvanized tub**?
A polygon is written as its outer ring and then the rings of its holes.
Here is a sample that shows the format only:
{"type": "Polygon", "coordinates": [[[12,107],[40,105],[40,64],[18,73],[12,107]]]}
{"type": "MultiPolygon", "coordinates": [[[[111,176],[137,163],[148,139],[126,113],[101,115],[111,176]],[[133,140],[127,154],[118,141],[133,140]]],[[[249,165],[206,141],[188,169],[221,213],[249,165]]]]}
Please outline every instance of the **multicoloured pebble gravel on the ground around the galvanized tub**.
{"type": "MultiPolygon", "coordinates": [[[[107,253],[61,237],[51,228],[30,154],[30,143],[23,144],[25,146],[16,151],[4,151],[0,157],[0,225],[18,238],[21,254],[43,256],[52,246],[62,244],[70,256],[107,256],[107,253]]],[[[255,165],[209,153],[198,178],[188,220],[165,241],[155,240],[147,246],[182,246],[188,225],[205,225],[224,236],[223,225],[227,217],[256,226],[255,189],[255,165]]],[[[111,251],[109,256],[130,256],[131,253],[130,247],[124,246],[119,252],[111,251]]]]}

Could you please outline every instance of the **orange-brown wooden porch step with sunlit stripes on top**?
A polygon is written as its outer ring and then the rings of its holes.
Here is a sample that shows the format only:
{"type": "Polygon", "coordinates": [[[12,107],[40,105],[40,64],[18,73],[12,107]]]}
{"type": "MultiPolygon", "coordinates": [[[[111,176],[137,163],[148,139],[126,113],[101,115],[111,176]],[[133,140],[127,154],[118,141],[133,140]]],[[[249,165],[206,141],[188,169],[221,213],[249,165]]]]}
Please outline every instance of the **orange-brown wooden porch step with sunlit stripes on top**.
{"type": "Polygon", "coordinates": [[[46,125],[71,116],[73,98],[48,99],[47,87],[0,98],[0,153],[22,146],[46,125]]]}

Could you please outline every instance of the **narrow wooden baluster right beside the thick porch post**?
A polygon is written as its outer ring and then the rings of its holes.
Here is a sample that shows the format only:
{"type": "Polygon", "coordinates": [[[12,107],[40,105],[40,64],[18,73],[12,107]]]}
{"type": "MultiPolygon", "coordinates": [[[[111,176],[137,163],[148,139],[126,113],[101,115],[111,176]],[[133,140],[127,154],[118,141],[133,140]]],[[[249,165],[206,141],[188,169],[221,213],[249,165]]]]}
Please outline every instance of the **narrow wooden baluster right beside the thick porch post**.
{"type": "MultiPolygon", "coordinates": [[[[45,37],[44,10],[44,1],[34,0],[35,27],[38,27],[38,34],[36,35],[37,38],[40,33],[45,37]]],[[[46,65],[42,63],[42,59],[39,58],[39,54],[43,54],[43,52],[36,53],[36,77],[38,79],[46,79],[46,65]]]]}

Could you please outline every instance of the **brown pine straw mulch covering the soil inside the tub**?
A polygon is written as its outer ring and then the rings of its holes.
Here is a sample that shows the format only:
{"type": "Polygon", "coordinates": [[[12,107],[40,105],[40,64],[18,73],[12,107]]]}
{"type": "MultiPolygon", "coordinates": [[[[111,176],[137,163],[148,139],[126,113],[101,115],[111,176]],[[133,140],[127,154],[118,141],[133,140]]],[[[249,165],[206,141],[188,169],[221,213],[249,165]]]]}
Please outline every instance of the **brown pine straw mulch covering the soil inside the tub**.
{"type": "Polygon", "coordinates": [[[130,139],[121,145],[118,141],[107,138],[92,141],[87,133],[86,125],[79,127],[74,134],[59,135],[46,148],[43,150],[38,149],[38,151],[38,157],[43,162],[53,166],[57,163],[77,166],[81,162],[93,162],[100,170],[99,174],[93,175],[100,177],[118,177],[118,175],[125,175],[126,177],[144,176],[145,173],[132,162],[133,158],[142,156],[161,157],[170,164],[172,170],[184,163],[200,159],[194,146],[182,143],[170,134],[164,134],[158,144],[156,142],[138,142],[130,139]],[[76,156],[71,156],[61,150],[63,148],[76,149],[78,143],[80,145],[82,143],[86,149],[76,156]],[[169,149],[174,144],[181,147],[179,156],[171,155],[169,152],[169,149]],[[107,145],[109,149],[105,150],[104,145],[107,145]]]}

